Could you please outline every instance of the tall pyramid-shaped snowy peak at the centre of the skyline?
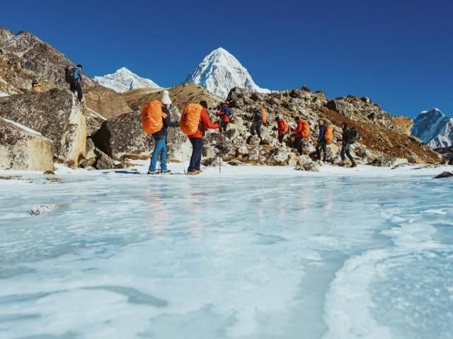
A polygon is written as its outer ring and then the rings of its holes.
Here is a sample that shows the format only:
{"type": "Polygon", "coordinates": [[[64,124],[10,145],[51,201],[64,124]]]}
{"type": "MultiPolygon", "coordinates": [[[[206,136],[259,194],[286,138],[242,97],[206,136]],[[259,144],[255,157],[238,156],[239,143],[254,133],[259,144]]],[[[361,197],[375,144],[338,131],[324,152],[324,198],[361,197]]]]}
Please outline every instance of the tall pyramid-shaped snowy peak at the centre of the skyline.
{"type": "Polygon", "coordinates": [[[238,59],[222,47],[208,54],[184,83],[196,83],[224,99],[235,87],[249,92],[270,93],[270,90],[256,85],[238,59]]]}

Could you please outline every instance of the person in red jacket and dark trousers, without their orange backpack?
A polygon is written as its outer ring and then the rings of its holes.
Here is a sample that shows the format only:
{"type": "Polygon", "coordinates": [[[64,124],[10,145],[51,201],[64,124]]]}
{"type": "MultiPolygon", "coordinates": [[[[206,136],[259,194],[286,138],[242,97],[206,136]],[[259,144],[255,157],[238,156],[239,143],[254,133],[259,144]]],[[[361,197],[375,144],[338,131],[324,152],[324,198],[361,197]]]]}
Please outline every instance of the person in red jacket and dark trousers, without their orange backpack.
{"type": "Polygon", "coordinates": [[[219,124],[211,124],[210,117],[207,115],[207,102],[201,101],[203,109],[200,115],[199,129],[189,137],[192,143],[192,156],[190,157],[190,164],[187,171],[188,175],[200,174],[201,156],[203,144],[205,143],[205,130],[206,129],[219,129],[219,124]]]}

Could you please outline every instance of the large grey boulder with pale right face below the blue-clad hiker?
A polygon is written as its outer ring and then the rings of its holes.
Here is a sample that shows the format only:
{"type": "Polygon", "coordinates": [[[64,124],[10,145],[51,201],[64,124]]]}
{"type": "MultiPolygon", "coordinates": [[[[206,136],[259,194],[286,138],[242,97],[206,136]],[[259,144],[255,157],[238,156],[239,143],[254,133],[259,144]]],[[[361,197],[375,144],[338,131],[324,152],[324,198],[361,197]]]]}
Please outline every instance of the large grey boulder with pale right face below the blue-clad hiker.
{"type": "Polygon", "coordinates": [[[85,117],[79,100],[69,90],[1,97],[0,117],[50,138],[55,157],[70,166],[77,166],[85,156],[85,117]]]}

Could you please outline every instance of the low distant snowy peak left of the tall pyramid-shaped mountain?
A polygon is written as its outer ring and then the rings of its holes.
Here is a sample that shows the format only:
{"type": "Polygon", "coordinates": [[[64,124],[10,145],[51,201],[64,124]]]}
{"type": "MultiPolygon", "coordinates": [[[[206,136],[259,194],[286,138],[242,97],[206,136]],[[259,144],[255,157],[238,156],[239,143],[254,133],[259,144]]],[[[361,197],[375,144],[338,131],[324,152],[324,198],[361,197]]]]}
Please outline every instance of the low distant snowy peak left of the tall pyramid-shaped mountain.
{"type": "Polygon", "coordinates": [[[96,83],[104,87],[111,88],[118,93],[127,92],[128,90],[136,90],[137,88],[161,88],[154,81],[146,78],[141,78],[137,74],[132,73],[129,69],[122,67],[113,74],[105,76],[95,76],[93,78],[96,83]]]}

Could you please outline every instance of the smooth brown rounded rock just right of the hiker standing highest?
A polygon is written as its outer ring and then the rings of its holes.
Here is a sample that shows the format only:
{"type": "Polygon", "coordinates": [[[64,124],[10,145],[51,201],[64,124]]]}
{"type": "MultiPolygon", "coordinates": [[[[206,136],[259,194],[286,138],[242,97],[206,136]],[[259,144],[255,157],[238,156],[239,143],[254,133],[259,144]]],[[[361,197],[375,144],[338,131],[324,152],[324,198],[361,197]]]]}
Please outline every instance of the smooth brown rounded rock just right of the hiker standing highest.
{"type": "Polygon", "coordinates": [[[130,113],[132,109],[119,93],[101,85],[86,88],[84,92],[86,107],[98,112],[106,119],[118,117],[121,114],[130,113]]]}

